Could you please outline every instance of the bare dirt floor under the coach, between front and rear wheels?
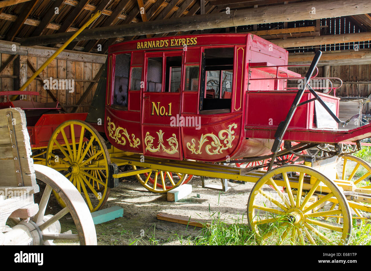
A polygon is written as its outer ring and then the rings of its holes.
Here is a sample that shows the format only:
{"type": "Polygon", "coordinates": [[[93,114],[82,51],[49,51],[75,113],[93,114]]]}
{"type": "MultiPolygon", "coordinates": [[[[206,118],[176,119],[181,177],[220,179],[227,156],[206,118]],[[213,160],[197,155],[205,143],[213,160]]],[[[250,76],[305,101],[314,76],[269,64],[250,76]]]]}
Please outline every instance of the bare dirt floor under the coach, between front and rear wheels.
{"type": "MultiPolygon", "coordinates": [[[[215,179],[205,183],[220,184],[215,179]]],[[[189,182],[192,193],[176,203],[166,200],[166,194],[147,191],[135,177],[130,177],[111,190],[105,208],[117,205],[124,208],[124,216],[96,225],[99,245],[137,244],[184,244],[183,237],[196,237],[201,228],[157,220],[159,212],[209,220],[211,215],[232,222],[246,219],[246,204],[252,183],[229,183],[227,192],[207,190],[201,187],[201,178],[193,177],[189,182]],[[144,236],[141,236],[144,235],[144,236]],[[137,242],[136,242],[137,241],[137,242]],[[134,244],[133,243],[133,244],[134,244]]]]}

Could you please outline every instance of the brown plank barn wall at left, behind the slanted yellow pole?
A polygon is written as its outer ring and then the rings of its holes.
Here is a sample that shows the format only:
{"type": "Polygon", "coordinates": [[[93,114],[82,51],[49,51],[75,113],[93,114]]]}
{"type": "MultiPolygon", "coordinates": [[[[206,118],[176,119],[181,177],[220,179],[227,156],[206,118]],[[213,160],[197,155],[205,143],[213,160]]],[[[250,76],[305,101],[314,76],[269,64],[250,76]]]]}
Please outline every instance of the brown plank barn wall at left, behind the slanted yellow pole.
{"type": "MultiPolygon", "coordinates": [[[[1,66],[12,57],[10,54],[1,53],[1,66]]],[[[27,60],[33,64],[33,66],[37,69],[42,66],[43,63],[47,60],[46,57],[33,57],[27,56],[27,60]]],[[[14,90],[14,80],[18,80],[15,77],[16,73],[14,71],[14,65],[16,65],[16,61],[13,63],[9,63],[8,66],[3,70],[0,75],[0,90],[1,91],[9,91],[14,90]]],[[[55,97],[58,98],[59,103],[66,105],[67,108],[73,108],[73,106],[79,101],[82,94],[88,88],[89,84],[98,73],[99,69],[101,68],[102,64],[98,63],[84,63],[79,61],[68,61],[68,60],[61,60],[61,59],[54,59],[52,63],[50,63],[41,73],[40,75],[44,79],[49,79],[52,77],[53,79],[74,79],[74,92],[69,93],[69,90],[51,90],[55,97]]],[[[27,67],[27,78],[32,76],[32,70],[27,67]]],[[[37,77],[35,80],[31,82],[31,84],[27,87],[27,91],[37,91],[40,93],[40,96],[32,96],[33,101],[41,102],[41,103],[48,103],[53,102],[53,99],[47,93],[47,91],[43,88],[44,83],[43,81],[38,79],[37,77]]],[[[85,98],[82,102],[81,106],[78,108],[77,112],[88,112],[89,106],[92,102],[92,97],[95,93],[97,84],[94,85],[91,93],[85,98]]],[[[59,87],[62,88],[62,87],[59,87]]],[[[29,97],[27,97],[29,98],[29,97]]],[[[1,101],[4,101],[4,97],[1,98],[1,101]]]]}

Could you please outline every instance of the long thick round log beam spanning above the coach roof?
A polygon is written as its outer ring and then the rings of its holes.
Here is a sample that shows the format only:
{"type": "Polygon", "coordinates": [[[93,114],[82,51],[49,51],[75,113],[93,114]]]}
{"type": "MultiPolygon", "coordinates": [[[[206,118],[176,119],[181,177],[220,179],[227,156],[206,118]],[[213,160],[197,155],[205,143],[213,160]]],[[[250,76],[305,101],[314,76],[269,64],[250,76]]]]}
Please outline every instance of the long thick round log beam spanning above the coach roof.
{"type": "MultiPolygon", "coordinates": [[[[139,9],[138,9],[139,10],[139,9]]],[[[203,30],[211,28],[225,28],[247,24],[274,23],[281,21],[316,20],[328,17],[350,16],[354,14],[371,13],[371,2],[369,0],[349,1],[309,1],[287,5],[277,5],[269,8],[257,7],[255,9],[236,10],[233,14],[215,13],[192,17],[174,18],[168,20],[148,21],[133,25],[117,25],[109,27],[98,27],[85,29],[76,40],[102,39],[111,37],[123,37],[134,35],[146,35],[167,33],[174,31],[203,30]],[[316,13],[309,11],[313,5],[316,13]]],[[[39,37],[28,37],[20,39],[22,45],[33,46],[49,44],[52,41],[65,42],[72,36],[69,33],[57,33],[39,37]]]]}

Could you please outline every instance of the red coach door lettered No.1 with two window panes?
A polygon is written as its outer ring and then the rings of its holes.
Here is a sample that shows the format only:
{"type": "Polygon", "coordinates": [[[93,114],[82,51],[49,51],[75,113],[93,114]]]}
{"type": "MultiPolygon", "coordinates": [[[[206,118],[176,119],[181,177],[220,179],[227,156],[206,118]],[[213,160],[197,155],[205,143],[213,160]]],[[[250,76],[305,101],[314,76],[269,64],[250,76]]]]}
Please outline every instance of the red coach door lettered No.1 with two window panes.
{"type": "Polygon", "coordinates": [[[143,153],[181,159],[177,118],[183,89],[183,51],[146,53],[142,103],[143,153]]]}

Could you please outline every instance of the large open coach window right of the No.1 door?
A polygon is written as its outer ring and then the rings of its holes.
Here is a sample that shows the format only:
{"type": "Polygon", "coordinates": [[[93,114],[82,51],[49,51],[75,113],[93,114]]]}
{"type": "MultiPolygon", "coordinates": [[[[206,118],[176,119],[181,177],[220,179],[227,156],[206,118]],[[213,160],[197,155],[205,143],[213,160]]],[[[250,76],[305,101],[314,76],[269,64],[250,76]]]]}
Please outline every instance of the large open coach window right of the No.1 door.
{"type": "Polygon", "coordinates": [[[203,80],[200,91],[200,113],[228,113],[232,101],[234,48],[204,50],[203,80]]]}

